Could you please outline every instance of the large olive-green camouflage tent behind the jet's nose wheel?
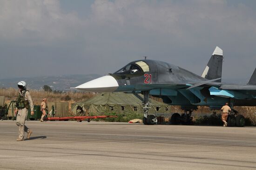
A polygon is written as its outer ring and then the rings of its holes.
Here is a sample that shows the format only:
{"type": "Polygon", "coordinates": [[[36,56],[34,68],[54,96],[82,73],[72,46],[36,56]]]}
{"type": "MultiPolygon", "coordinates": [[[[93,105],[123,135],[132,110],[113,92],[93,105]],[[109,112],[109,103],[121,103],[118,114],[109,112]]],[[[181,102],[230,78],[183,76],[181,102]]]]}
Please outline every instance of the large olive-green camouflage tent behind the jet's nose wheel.
{"type": "MultiPolygon", "coordinates": [[[[143,96],[141,95],[141,97],[143,96]]],[[[149,110],[149,114],[170,113],[170,107],[167,104],[155,100],[152,100],[151,103],[152,106],[149,110]]],[[[86,115],[143,113],[141,100],[134,94],[126,94],[122,92],[103,93],[86,101],[73,103],[71,105],[71,112],[74,115],[80,115],[76,110],[78,106],[82,107],[86,115]]]]}

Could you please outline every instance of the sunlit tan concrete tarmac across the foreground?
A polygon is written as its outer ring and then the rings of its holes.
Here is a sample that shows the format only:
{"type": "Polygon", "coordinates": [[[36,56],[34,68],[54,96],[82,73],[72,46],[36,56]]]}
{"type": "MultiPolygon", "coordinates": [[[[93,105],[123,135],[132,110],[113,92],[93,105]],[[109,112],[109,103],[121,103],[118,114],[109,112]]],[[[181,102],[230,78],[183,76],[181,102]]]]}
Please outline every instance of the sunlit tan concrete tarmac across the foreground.
{"type": "Polygon", "coordinates": [[[0,170],[255,170],[256,127],[0,121],[0,170]],[[25,134],[27,137],[27,134],[25,134]]]}

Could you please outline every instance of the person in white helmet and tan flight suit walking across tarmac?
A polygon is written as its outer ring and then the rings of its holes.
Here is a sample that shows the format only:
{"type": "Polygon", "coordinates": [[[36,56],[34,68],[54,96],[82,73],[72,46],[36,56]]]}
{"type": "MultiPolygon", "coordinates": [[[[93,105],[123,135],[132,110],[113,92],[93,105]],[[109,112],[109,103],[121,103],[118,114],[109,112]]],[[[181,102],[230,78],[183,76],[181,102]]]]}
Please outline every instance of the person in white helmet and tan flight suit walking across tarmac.
{"type": "Polygon", "coordinates": [[[25,120],[27,118],[27,109],[30,107],[31,115],[34,115],[34,105],[31,99],[29,91],[26,89],[26,82],[18,82],[19,96],[16,101],[16,125],[19,126],[19,138],[17,141],[24,140],[24,131],[27,132],[27,139],[30,138],[31,133],[33,132],[25,125],[25,120]]]}

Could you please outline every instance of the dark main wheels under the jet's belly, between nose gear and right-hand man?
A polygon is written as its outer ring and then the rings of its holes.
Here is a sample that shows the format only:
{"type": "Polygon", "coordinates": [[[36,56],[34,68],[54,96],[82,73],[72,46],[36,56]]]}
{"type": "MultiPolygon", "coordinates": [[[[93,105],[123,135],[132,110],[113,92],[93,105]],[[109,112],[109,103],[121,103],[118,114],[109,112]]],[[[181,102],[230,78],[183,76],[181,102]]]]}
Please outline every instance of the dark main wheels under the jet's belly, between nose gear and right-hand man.
{"type": "Polygon", "coordinates": [[[179,113],[173,113],[171,116],[170,124],[171,125],[190,125],[192,123],[192,110],[185,110],[185,113],[181,115],[179,113]]]}

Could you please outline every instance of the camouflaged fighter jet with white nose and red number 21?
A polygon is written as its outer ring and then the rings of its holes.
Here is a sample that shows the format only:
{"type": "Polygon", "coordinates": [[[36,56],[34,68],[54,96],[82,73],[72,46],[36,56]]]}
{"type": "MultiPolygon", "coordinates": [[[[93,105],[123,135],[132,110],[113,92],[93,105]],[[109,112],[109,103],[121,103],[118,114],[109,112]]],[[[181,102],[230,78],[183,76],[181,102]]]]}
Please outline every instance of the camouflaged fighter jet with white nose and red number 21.
{"type": "MultiPolygon", "coordinates": [[[[256,69],[248,84],[221,82],[223,50],[214,50],[202,76],[176,65],[156,60],[137,60],[113,74],[81,84],[76,89],[92,92],[128,92],[144,95],[143,123],[157,123],[154,113],[148,114],[149,95],[162,98],[164,103],[181,106],[184,113],[174,113],[172,124],[191,122],[191,113],[198,106],[220,109],[224,103],[234,106],[256,106],[256,69]]],[[[235,113],[236,111],[233,110],[235,113]]],[[[236,126],[244,126],[244,117],[231,116],[236,126]]]]}

